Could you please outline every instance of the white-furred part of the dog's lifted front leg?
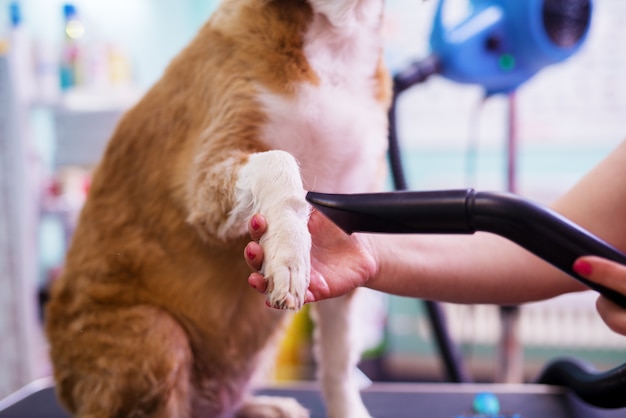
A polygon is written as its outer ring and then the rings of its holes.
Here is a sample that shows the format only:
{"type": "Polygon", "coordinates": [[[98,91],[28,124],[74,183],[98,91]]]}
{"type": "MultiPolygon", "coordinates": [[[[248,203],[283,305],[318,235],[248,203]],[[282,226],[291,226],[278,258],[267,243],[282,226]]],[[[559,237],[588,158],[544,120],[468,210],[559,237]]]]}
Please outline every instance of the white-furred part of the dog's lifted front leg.
{"type": "Polygon", "coordinates": [[[298,163],[285,151],[250,155],[240,169],[237,205],[229,221],[244,222],[255,213],[267,220],[261,238],[265,258],[261,273],[267,279],[267,301],[276,308],[297,310],[304,304],[311,269],[311,236],[307,228],[310,206],[298,163]]]}

